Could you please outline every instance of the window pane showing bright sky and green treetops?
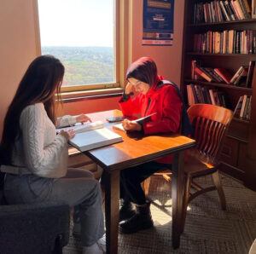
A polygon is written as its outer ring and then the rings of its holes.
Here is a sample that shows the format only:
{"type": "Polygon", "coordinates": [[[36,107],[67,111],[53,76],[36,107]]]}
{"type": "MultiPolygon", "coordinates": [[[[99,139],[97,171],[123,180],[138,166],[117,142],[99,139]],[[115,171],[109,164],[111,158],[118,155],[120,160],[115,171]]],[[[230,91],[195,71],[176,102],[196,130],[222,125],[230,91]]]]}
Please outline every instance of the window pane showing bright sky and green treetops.
{"type": "Polygon", "coordinates": [[[64,91],[119,86],[115,2],[38,0],[41,53],[64,64],[64,91]]]}

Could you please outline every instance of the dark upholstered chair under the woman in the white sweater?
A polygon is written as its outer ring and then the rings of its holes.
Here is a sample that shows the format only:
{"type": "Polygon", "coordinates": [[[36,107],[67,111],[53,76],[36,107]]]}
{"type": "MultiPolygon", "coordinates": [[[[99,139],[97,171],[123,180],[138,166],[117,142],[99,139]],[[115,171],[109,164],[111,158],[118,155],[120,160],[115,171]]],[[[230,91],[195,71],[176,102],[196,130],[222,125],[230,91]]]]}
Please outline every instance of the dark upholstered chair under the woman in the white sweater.
{"type": "Polygon", "coordinates": [[[0,172],[0,253],[62,253],[69,237],[68,205],[7,205],[0,172]]]}

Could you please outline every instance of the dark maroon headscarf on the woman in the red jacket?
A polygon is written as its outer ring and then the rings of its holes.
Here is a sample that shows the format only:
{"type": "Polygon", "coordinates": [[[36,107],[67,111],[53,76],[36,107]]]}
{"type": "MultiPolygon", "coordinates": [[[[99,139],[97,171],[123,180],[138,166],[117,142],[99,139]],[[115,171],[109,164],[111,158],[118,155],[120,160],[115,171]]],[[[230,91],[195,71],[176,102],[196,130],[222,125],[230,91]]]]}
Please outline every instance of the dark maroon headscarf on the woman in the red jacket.
{"type": "Polygon", "coordinates": [[[136,78],[150,86],[157,84],[159,78],[157,76],[157,67],[154,60],[144,56],[134,61],[126,72],[126,79],[128,78],[136,78]]]}

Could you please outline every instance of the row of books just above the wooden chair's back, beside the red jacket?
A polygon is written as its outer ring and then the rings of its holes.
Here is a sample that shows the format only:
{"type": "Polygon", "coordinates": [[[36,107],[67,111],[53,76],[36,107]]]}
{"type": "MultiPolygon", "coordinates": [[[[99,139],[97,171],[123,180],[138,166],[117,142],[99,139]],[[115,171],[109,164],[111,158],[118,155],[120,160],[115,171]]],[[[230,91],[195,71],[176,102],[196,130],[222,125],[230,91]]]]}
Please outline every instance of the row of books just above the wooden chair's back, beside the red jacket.
{"type": "Polygon", "coordinates": [[[189,106],[197,103],[207,103],[227,107],[226,97],[217,89],[209,89],[198,84],[187,84],[189,106]]]}

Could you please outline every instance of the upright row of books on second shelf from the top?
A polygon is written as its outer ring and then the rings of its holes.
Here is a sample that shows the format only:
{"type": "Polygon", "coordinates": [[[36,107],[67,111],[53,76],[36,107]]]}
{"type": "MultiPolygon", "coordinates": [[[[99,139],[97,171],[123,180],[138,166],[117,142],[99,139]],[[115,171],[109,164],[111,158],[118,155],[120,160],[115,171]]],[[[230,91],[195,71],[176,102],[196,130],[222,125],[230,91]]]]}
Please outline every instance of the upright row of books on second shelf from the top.
{"type": "Polygon", "coordinates": [[[194,51],[209,54],[256,54],[256,31],[225,30],[195,34],[194,51]]]}

